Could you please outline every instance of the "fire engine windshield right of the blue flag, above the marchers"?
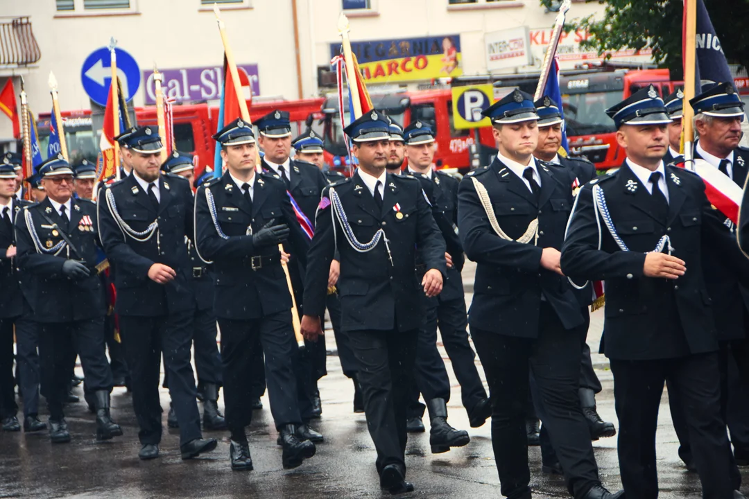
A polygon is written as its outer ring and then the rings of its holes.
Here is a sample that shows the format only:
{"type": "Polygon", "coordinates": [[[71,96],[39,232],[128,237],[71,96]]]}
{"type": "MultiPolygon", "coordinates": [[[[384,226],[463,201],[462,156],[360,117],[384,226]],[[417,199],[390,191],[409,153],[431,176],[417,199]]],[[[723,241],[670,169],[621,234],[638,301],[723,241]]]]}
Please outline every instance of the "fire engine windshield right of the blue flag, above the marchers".
{"type": "Polygon", "coordinates": [[[622,91],[586,92],[562,96],[567,136],[616,132],[606,109],[622,100],[622,91]]]}

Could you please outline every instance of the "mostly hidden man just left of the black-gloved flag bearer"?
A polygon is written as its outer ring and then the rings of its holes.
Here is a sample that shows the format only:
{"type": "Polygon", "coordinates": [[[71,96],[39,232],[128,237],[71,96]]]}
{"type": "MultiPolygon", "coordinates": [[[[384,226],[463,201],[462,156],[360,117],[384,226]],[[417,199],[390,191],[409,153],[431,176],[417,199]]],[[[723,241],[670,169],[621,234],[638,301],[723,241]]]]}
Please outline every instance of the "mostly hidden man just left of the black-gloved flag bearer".
{"type": "MultiPolygon", "coordinates": [[[[172,151],[161,165],[165,174],[179,175],[192,184],[195,177],[195,165],[192,155],[172,151]]],[[[219,388],[221,388],[221,354],[216,344],[216,315],[213,313],[213,278],[210,269],[200,260],[195,252],[195,243],[190,236],[185,242],[189,254],[191,272],[190,284],[195,293],[195,317],[192,342],[195,346],[195,371],[198,373],[198,398],[203,400],[203,429],[226,429],[226,422],[219,411],[219,388]]],[[[169,386],[168,379],[164,385],[169,386]]],[[[173,403],[169,404],[169,415],[166,423],[170,428],[179,428],[179,421],[173,403]]]]}

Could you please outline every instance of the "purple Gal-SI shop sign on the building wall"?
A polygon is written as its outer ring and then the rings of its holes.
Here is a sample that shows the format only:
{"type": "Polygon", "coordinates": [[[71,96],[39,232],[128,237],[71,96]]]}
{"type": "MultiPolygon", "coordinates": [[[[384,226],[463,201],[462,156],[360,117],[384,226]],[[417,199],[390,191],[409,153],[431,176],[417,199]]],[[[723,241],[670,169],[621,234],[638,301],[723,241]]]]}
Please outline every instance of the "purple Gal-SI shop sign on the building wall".
{"type": "MultiPolygon", "coordinates": [[[[252,87],[252,95],[260,95],[260,79],[257,64],[240,64],[237,69],[247,73],[249,85],[252,87]]],[[[161,84],[164,94],[169,99],[177,102],[189,102],[192,100],[214,100],[221,98],[221,89],[224,87],[224,70],[222,67],[185,67],[170,70],[161,70],[164,82],[161,84]]],[[[156,103],[156,90],[154,87],[154,72],[143,71],[145,81],[145,103],[151,105],[156,103]]]]}

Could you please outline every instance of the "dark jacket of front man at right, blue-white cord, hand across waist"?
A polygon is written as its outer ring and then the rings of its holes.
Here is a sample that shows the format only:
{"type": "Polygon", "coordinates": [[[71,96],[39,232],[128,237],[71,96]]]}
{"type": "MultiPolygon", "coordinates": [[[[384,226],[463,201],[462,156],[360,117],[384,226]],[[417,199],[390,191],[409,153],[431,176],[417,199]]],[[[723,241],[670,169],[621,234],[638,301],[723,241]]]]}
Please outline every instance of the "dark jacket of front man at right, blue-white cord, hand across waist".
{"type": "MultiPolygon", "coordinates": [[[[575,280],[604,280],[606,308],[604,353],[623,360],[675,358],[718,348],[712,301],[703,278],[703,251],[724,245],[706,224],[712,211],[700,177],[666,166],[668,213],[658,215],[655,201],[628,165],[593,180],[582,190],[562,248],[562,271],[575,280]],[[601,220],[601,249],[592,191],[604,192],[616,233],[630,251],[621,251],[601,220]],[[676,280],[646,278],[646,252],[661,236],[670,237],[672,254],[687,271],[676,280]]],[[[734,245],[735,246],[735,245],[734,245]]],[[[664,252],[667,250],[664,250],[664,252]]]]}

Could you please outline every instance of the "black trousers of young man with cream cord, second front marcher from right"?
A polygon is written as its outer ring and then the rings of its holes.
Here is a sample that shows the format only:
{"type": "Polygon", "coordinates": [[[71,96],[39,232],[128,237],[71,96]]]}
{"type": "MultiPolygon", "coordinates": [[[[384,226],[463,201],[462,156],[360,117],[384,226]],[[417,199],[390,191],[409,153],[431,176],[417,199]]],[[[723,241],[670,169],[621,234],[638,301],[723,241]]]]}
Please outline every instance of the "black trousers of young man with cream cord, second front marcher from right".
{"type": "Polygon", "coordinates": [[[486,373],[491,396],[491,443],[501,492],[510,499],[530,495],[525,430],[530,373],[539,387],[551,443],[568,489],[580,497],[598,480],[590,430],[580,409],[580,330],[566,330],[542,302],[536,340],[473,328],[471,336],[486,373]]]}

